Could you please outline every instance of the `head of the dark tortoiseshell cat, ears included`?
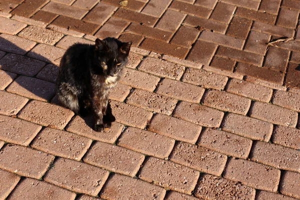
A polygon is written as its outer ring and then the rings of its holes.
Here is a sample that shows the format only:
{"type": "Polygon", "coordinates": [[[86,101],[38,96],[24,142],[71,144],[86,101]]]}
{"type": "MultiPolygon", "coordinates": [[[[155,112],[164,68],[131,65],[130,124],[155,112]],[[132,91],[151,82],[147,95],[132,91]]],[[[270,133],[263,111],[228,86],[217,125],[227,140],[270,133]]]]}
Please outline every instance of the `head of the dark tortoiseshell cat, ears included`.
{"type": "Polygon", "coordinates": [[[106,76],[116,76],[128,61],[131,42],[121,42],[107,37],[95,40],[95,56],[98,66],[106,76]]]}

